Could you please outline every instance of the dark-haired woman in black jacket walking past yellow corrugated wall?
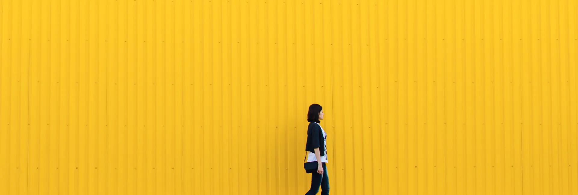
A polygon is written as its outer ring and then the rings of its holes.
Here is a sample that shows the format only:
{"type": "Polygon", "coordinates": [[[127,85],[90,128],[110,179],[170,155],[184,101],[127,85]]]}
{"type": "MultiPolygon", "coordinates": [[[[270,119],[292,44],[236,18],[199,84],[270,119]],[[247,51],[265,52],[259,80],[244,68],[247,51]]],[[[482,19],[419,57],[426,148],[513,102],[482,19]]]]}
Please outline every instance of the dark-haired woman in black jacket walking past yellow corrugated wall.
{"type": "Polygon", "coordinates": [[[327,166],[325,166],[327,163],[327,133],[319,124],[321,123],[320,120],[323,120],[323,115],[321,105],[312,104],[309,106],[305,163],[317,162],[317,170],[311,173],[311,189],[305,195],[317,194],[319,186],[321,186],[321,195],[329,194],[329,176],[327,166]]]}

